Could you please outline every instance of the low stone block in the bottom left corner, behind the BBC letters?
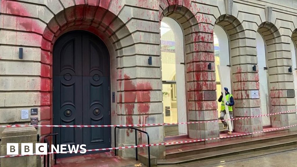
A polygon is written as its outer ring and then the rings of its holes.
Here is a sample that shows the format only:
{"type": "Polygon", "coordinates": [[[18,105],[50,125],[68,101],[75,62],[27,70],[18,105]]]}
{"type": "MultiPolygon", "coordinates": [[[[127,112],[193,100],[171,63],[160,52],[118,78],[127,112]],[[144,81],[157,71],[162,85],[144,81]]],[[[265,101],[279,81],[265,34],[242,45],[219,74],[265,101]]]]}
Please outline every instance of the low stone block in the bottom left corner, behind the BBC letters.
{"type": "MultiPolygon", "coordinates": [[[[35,143],[37,142],[37,131],[34,127],[11,127],[6,128],[2,132],[1,138],[1,153],[0,156],[5,156],[7,150],[7,143],[19,143],[19,153],[21,154],[21,143],[33,143],[35,153],[35,143]]],[[[24,157],[7,157],[1,158],[1,167],[22,166],[22,167],[36,167],[37,156],[24,157]]]]}

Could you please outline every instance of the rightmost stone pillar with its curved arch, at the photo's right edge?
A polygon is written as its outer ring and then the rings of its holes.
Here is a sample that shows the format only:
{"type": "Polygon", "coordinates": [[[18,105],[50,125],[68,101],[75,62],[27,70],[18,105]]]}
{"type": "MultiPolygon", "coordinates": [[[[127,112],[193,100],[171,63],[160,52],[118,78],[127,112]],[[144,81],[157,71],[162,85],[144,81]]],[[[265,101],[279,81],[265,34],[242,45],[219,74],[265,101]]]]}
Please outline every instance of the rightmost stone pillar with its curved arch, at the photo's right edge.
{"type": "MultiPolygon", "coordinates": [[[[292,66],[290,41],[287,35],[270,22],[263,22],[258,28],[266,46],[266,61],[268,68],[268,90],[270,96],[270,112],[280,112],[296,109],[294,97],[287,95],[287,89],[294,89],[294,79],[289,68],[292,66]]],[[[292,39],[294,40],[294,33],[292,39]]],[[[271,116],[271,126],[279,127],[291,124],[287,117],[290,114],[271,116]]]]}

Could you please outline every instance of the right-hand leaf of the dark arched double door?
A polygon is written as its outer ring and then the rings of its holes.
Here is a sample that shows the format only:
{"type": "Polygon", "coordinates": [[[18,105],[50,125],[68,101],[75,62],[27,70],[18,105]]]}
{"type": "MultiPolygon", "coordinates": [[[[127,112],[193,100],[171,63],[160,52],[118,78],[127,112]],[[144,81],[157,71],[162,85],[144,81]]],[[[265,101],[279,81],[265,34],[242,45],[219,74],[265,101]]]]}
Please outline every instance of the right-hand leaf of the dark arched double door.
{"type": "MultiPolygon", "coordinates": [[[[92,36],[83,37],[83,53],[89,57],[84,61],[83,80],[86,91],[83,92],[84,111],[83,122],[86,125],[109,125],[110,103],[108,52],[103,42],[97,42],[92,36]],[[90,61],[92,60],[92,61],[90,61]]],[[[87,149],[107,148],[110,146],[111,128],[84,128],[84,143],[87,149]]]]}

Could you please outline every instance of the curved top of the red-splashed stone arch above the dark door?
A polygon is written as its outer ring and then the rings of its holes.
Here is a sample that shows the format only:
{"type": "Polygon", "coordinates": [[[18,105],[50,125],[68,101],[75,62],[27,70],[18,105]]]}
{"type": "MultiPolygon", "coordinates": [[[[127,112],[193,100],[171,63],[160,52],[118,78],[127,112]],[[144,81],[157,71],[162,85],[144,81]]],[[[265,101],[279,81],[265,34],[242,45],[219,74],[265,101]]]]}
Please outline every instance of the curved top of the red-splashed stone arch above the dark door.
{"type": "Polygon", "coordinates": [[[119,41],[121,37],[116,32],[131,34],[125,23],[113,12],[104,7],[81,4],[60,11],[47,23],[42,34],[41,48],[51,52],[53,43],[61,34],[76,29],[93,32],[106,43],[109,50],[113,48],[120,51],[116,53],[119,55],[122,49],[119,41]]]}

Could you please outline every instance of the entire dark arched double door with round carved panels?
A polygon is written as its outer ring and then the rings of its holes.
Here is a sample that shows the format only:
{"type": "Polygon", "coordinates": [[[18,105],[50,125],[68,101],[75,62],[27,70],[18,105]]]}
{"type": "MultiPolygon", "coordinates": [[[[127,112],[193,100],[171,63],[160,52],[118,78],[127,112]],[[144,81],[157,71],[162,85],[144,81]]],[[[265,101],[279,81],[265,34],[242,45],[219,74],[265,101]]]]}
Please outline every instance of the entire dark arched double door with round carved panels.
{"type": "MultiPolygon", "coordinates": [[[[110,125],[109,52],[101,39],[87,31],[70,31],[54,44],[53,124],[110,125]]],[[[86,144],[86,149],[111,146],[110,128],[64,127],[53,131],[59,133],[56,144],[86,144]]]]}

